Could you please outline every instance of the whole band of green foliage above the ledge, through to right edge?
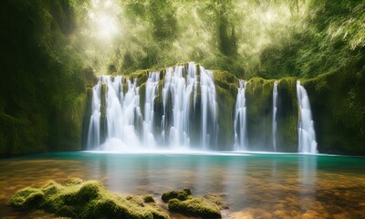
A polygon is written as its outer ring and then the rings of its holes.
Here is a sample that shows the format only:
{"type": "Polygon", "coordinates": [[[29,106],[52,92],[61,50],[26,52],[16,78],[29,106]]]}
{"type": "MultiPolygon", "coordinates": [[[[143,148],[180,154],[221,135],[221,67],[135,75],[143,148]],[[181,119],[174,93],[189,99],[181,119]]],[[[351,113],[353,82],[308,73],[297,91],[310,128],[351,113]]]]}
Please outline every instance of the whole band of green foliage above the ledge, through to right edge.
{"type": "Polygon", "coordinates": [[[120,29],[128,31],[111,48],[83,40],[96,49],[86,57],[100,71],[105,63],[130,73],[193,60],[240,78],[314,78],[351,65],[365,45],[365,4],[356,0],[128,0],[119,6],[125,12],[120,29]]]}

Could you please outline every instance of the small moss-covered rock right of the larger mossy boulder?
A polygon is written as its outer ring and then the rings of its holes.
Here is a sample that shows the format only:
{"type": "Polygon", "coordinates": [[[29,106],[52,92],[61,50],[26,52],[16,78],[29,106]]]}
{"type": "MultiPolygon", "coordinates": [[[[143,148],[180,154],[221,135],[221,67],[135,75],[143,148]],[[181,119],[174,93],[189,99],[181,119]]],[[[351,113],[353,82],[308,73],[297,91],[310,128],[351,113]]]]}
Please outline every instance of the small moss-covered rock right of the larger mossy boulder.
{"type": "Polygon", "coordinates": [[[162,200],[170,211],[201,218],[222,218],[221,210],[227,208],[220,196],[193,196],[189,189],[163,193],[162,200]]]}

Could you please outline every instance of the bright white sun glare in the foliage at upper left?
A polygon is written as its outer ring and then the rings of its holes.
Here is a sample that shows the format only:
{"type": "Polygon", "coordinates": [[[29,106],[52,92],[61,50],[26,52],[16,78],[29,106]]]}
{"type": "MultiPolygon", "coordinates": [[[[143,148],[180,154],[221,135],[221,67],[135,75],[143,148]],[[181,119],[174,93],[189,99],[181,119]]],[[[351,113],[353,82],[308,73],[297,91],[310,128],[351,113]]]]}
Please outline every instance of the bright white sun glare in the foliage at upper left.
{"type": "Polygon", "coordinates": [[[110,40],[119,32],[118,16],[120,7],[113,0],[92,0],[89,10],[91,35],[110,40]]]}

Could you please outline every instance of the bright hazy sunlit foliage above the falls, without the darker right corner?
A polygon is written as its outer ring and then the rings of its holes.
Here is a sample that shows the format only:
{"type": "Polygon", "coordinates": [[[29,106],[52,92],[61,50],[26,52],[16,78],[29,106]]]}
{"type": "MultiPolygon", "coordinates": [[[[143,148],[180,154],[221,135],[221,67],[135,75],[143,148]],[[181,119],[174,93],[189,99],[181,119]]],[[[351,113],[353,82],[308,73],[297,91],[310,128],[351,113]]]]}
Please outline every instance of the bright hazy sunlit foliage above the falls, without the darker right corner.
{"type": "Polygon", "coordinates": [[[259,55],[291,37],[307,16],[308,0],[163,0],[73,4],[78,31],[72,44],[98,72],[130,74],[195,61],[237,76],[257,74],[259,55]],[[111,4],[110,11],[104,11],[111,4]],[[96,10],[95,8],[98,8],[96,10]],[[116,12],[117,10],[117,12],[116,12]],[[99,37],[99,23],[90,18],[112,16],[118,33],[99,37]],[[109,15],[108,15],[108,12],[109,15]],[[105,16],[105,15],[104,15],[105,16]],[[114,68],[112,71],[115,70],[114,68]]]}

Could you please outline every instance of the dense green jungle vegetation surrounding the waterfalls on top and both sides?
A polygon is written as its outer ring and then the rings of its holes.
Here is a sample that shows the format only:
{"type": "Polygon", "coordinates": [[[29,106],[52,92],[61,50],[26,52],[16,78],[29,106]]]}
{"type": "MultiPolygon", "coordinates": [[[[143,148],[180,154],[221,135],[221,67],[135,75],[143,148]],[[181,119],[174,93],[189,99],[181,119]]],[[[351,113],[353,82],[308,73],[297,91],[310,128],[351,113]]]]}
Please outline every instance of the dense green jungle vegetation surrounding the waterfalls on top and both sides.
{"type": "Polygon", "coordinates": [[[1,1],[0,154],[79,150],[95,74],[186,61],[308,79],[319,142],[365,154],[364,11],[363,0],[1,1]]]}

